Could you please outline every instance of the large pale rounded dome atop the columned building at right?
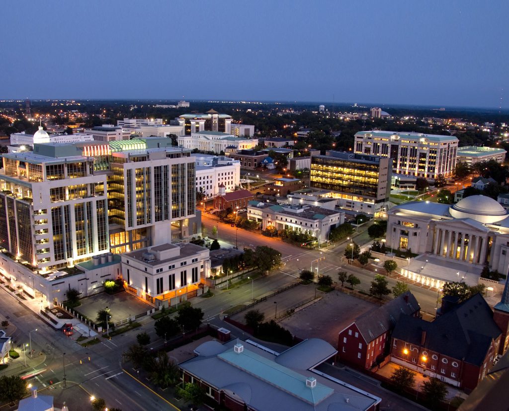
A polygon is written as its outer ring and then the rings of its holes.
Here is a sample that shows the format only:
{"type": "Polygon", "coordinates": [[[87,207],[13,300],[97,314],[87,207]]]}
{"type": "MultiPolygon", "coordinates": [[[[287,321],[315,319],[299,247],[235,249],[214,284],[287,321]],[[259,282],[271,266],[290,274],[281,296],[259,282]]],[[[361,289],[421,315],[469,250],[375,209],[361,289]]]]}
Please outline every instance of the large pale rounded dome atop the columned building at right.
{"type": "Polygon", "coordinates": [[[507,211],[495,200],[486,196],[470,196],[450,206],[455,218],[472,218],[479,223],[496,223],[507,217],[507,211]]]}

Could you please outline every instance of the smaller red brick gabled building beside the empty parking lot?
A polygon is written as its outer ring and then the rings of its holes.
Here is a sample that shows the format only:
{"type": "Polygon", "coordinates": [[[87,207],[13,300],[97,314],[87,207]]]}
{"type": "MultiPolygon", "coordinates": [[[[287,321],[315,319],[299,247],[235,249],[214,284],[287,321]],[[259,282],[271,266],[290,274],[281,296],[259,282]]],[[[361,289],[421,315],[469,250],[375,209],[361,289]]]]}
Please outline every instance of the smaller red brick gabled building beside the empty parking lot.
{"type": "Polygon", "coordinates": [[[342,362],[369,369],[389,354],[390,334],[401,314],[420,317],[420,306],[407,291],[376,310],[366,312],[339,334],[338,356],[342,362]]]}

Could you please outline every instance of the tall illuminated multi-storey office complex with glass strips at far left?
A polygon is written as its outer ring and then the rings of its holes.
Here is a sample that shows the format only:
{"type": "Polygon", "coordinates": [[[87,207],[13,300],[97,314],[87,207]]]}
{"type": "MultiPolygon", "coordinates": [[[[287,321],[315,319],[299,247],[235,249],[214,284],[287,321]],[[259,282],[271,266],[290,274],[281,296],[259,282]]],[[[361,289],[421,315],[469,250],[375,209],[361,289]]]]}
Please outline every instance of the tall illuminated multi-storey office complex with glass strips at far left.
{"type": "Polygon", "coordinates": [[[195,160],[167,138],[3,154],[0,275],[46,303],[122,275],[122,253],[196,235],[195,160]]]}

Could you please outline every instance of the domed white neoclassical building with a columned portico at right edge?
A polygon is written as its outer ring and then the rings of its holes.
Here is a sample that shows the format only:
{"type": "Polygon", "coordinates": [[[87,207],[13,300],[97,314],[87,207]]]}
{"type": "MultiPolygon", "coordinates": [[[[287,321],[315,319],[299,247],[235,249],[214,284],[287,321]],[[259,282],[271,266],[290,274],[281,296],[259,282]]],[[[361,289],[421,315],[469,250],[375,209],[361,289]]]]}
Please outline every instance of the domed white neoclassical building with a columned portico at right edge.
{"type": "Polygon", "coordinates": [[[507,274],[509,215],[495,200],[470,196],[457,204],[412,201],[388,212],[387,247],[411,249],[507,274]]]}

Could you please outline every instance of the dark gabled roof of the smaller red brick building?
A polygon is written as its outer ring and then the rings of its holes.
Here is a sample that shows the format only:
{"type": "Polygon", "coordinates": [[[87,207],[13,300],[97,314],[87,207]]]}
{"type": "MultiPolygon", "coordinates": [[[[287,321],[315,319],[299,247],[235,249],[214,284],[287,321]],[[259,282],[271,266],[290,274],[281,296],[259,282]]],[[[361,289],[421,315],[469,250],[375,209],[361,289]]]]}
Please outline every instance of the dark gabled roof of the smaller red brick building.
{"type": "Polygon", "coordinates": [[[420,310],[414,295],[407,291],[376,310],[366,312],[355,320],[364,341],[369,343],[394,328],[401,314],[412,315],[420,310]]]}

